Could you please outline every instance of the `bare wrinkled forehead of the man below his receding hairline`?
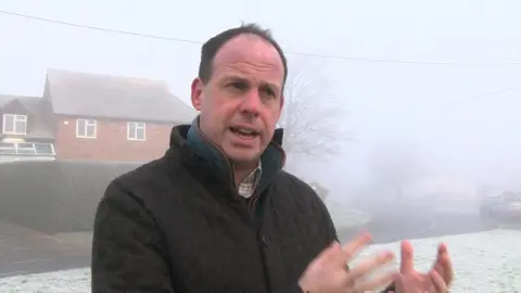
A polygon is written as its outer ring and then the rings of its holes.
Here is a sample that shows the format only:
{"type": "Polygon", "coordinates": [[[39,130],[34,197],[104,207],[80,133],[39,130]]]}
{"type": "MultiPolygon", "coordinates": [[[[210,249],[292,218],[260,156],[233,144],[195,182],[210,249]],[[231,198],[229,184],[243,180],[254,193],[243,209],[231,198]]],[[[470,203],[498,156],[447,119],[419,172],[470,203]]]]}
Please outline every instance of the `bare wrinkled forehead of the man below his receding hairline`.
{"type": "Polygon", "coordinates": [[[255,35],[240,35],[220,48],[214,59],[217,75],[241,75],[282,84],[284,67],[275,47],[255,35]]]}

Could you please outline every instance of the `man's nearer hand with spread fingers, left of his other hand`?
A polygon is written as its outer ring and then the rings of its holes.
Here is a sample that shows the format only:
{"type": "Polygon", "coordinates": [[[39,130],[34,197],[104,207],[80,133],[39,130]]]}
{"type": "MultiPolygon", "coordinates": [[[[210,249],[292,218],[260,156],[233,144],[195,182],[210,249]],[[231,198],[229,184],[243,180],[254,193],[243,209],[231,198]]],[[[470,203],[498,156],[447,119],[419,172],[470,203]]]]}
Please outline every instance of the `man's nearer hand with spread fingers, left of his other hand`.
{"type": "Polygon", "coordinates": [[[396,272],[386,272],[368,279],[368,275],[383,267],[394,258],[392,252],[380,253],[358,266],[347,269],[347,260],[371,241],[361,234],[343,247],[338,242],[322,251],[307,267],[298,284],[304,293],[354,293],[373,291],[389,285],[396,279],[396,272]]]}

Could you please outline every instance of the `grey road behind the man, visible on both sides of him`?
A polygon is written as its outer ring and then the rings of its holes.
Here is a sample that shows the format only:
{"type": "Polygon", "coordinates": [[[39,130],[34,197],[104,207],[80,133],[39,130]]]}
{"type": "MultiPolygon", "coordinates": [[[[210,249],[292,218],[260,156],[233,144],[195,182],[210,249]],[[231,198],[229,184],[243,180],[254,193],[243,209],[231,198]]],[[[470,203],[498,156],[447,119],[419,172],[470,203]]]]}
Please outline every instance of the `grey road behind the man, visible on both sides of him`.
{"type": "MultiPolygon", "coordinates": [[[[376,243],[389,243],[497,228],[500,228],[500,224],[483,220],[475,214],[395,208],[377,214],[364,227],[339,231],[339,235],[342,242],[346,242],[359,231],[368,231],[376,243]]],[[[508,228],[521,229],[521,222],[508,228]]],[[[66,244],[49,235],[0,221],[0,278],[88,266],[89,247],[66,244]]]]}

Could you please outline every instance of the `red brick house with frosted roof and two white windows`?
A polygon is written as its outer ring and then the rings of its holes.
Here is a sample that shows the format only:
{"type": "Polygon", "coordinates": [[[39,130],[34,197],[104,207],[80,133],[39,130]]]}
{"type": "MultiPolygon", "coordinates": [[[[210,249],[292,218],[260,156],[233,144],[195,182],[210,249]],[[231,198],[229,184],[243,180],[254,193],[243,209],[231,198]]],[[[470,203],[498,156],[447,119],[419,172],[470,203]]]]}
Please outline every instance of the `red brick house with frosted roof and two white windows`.
{"type": "Polygon", "coordinates": [[[166,151],[171,127],[196,115],[163,81],[56,69],[39,100],[47,113],[35,124],[49,128],[56,160],[151,161],[166,151]]]}

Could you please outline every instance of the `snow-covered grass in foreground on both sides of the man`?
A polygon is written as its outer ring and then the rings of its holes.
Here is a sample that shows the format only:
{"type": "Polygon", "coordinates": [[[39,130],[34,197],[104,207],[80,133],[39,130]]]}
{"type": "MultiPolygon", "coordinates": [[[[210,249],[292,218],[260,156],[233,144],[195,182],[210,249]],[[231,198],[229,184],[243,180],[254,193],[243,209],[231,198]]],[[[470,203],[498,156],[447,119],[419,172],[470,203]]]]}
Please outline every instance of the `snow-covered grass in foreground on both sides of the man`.
{"type": "MultiPolygon", "coordinates": [[[[448,244],[453,256],[456,279],[452,293],[521,293],[521,231],[495,230],[412,240],[418,269],[430,268],[441,241],[448,244]]],[[[381,250],[398,253],[399,243],[372,245],[360,257],[381,250]]],[[[90,293],[90,270],[3,278],[0,292],[90,293]]]]}

